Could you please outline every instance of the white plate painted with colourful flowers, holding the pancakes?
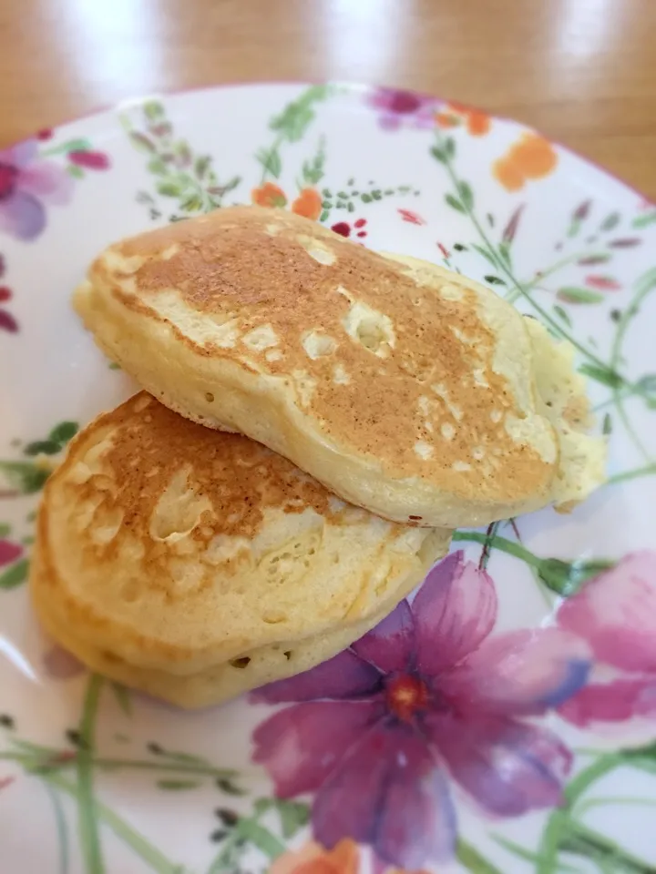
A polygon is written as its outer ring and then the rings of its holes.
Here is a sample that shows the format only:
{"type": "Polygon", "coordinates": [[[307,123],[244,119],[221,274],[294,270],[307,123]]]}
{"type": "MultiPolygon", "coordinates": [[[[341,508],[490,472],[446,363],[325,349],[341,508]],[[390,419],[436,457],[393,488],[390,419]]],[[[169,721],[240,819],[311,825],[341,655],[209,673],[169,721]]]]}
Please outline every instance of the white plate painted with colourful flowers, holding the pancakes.
{"type": "Polygon", "coordinates": [[[3,874],[655,870],[656,208],[456,103],[221,87],[6,149],[0,252],[3,874]],[[187,714],[87,676],[26,575],[48,473],[135,391],[70,291],[110,241],[249,201],[462,271],[572,342],[610,482],[570,515],[457,532],[313,700],[291,680],[187,714]],[[364,651],[366,689],[345,666],[364,651]]]}

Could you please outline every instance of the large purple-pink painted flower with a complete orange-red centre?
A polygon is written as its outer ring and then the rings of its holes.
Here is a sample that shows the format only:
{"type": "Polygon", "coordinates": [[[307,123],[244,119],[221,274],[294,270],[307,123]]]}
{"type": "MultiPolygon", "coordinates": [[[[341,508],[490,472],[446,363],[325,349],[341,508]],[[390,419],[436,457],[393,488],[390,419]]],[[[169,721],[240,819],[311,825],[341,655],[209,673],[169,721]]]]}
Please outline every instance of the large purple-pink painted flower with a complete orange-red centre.
{"type": "Polygon", "coordinates": [[[448,777],[498,817],[559,804],[569,750],[525,717],[579,690],[588,647],[558,628],[490,637],[496,617],[492,579],[451,554],[350,649],[253,694],[293,702],[257,727],[253,758],[280,797],[314,793],[323,846],[353,838],[402,869],[448,858],[448,777]]]}

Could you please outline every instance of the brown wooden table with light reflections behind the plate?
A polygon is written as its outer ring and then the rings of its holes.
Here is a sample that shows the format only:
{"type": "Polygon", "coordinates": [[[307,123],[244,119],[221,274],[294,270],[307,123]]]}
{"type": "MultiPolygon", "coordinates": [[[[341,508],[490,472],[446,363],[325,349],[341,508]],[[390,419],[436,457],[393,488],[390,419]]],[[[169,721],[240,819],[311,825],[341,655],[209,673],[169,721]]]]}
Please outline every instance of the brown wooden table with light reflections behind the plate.
{"type": "Polygon", "coordinates": [[[6,145],[123,97],[351,79],[518,118],[656,199],[656,0],[0,0],[6,145]]]}

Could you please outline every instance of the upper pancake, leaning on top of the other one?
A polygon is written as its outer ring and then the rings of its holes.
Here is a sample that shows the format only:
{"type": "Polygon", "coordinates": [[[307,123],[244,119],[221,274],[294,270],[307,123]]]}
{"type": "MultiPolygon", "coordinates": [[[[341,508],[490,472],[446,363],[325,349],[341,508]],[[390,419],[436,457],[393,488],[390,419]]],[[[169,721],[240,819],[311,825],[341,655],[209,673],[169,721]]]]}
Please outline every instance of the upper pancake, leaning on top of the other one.
{"type": "Polygon", "coordinates": [[[484,524],[593,485],[563,490],[569,455],[517,310],[292,213],[226,208],[123,240],[74,302],[170,409],[395,522],[484,524]]]}

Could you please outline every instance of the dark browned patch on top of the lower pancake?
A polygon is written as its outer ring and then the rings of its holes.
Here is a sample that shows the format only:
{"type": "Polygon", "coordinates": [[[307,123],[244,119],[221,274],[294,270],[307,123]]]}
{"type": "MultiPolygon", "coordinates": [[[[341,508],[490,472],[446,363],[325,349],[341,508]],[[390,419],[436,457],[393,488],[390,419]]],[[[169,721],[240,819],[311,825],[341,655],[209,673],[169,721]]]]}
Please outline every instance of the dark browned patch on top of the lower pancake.
{"type": "MultiPolygon", "coordinates": [[[[251,541],[261,530],[268,508],[282,513],[313,509],[337,521],[329,507],[330,493],[292,462],[239,434],[210,431],[189,422],[145,392],[97,422],[92,446],[101,433],[108,436],[108,448],[98,458],[98,472],[84,483],[78,483],[75,475],[64,483],[73,505],[97,503],[91,527],[97,531],[120,513],[120,529],[107,544],[94,543],[93,537],[86,536],[81,548],[93,561],[108,560],[116,557],[129,537],[143,548],[139,563],[156,587],[160,580],[161,587],[169,589],[176,546],[163,537],[152,537],[153,518],[176,477],[181,494],[207,504],[199,513],[191,513],[189,520],[199,560],[219,535],[251,541]]],[[[77,462],[84,463],[86,451],[84,445],[76,444],[65,466],[70,469],[77,462]]],[[[180,500],[184,502],[183,497],[180,500]]],[[[180,516],[183,511],[175,514],[176,522],[180,516]]],[[[140,589],[141,581],[133,587],[140,589]]],[[[126,581],[122,597],[131,601],[135,596],[126,581]]]]}

